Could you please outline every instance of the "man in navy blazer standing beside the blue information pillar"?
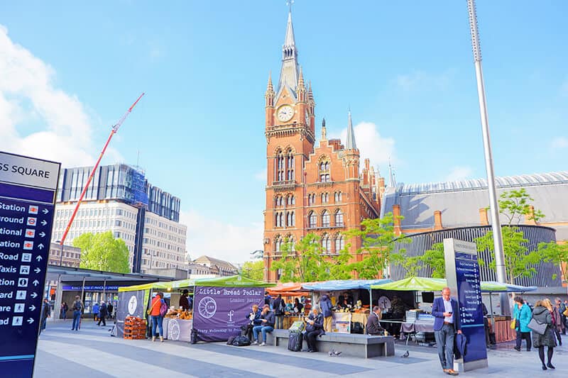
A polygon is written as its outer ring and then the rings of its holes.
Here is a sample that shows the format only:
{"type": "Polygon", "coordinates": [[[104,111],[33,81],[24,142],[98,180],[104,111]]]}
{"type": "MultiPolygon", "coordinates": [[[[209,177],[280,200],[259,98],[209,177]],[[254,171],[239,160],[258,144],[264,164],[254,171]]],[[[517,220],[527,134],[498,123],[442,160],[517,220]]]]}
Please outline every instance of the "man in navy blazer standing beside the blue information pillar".
{"type": "Polygon", "coordinates": [[[438,348],[439,362],[444,373],[457,375],[454,370],[454,336],[461,333],[458,303],[450,298],[449,287],[442,289],[442,298],[436,298],[432,304],[434,316],[434,335],[438,348]]]}

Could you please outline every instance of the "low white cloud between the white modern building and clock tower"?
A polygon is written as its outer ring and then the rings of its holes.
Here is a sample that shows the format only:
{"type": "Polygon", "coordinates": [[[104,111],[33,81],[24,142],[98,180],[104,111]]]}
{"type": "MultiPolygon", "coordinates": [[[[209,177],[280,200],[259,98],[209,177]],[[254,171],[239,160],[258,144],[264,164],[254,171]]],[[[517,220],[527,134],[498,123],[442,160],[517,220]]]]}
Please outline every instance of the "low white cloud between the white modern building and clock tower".
{"type": "Polygon", "coordinates": [[[187,226],[186,248],[192,259],[201,255],[239,263],[249,260],[251,252],[263,248],[262,223],[234,225],[196,211],[181,211],[180,223],[187,226]]]}

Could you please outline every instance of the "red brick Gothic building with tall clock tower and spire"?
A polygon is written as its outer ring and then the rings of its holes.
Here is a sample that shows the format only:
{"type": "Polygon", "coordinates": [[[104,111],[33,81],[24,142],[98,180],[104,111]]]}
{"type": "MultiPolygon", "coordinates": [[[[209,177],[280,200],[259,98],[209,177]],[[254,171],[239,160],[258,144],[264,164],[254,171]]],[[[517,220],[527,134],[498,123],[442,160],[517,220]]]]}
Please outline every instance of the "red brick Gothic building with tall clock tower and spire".
{"type": "MultiPolygon", "coordinates": [[[[346,244],[342,231],[379,216],[385,184],[368,160],[360,169],[351,112],[344,145],[339,139],[327,139],[325,120],[316,136],[315,99],[298,65],[290,13],[278,87],[269,77],[265,99],[265,279],[277,281],[279,274],[271,265],[281,255],[286,238],[298,241],[314,232],[329,255],[337,253],[346,244]]],[[[351,244],[352,251],[360,246],[360,242],[351,244]]]]}

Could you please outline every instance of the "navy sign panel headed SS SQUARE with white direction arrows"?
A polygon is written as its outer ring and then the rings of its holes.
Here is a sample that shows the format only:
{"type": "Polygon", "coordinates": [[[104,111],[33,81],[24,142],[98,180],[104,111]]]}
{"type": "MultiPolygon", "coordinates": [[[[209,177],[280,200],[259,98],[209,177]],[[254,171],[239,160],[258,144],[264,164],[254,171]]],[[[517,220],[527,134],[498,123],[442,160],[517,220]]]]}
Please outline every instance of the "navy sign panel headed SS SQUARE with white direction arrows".
{"type": "Polygon", "coordinates": [[[31,377],[60,164],[0,152],[0,371],[31,377]]]}

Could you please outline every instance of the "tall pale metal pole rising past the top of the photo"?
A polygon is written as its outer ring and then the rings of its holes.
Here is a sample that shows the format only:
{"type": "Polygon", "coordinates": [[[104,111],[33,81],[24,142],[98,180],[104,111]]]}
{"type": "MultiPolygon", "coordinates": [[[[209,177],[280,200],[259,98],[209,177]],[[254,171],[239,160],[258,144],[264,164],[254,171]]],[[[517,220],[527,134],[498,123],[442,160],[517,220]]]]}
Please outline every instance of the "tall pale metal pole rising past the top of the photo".
{"type": "Polygon", "coordinates": [[[499,205],[497,202],[495,187],[495,174],[493,173],[493,156],[491,154],[491,140],[489,138],[489,123],[487,119],[484,74],[483,70],[481,69],[481,47],[479,46],[479,33],[477,30],[475,0],[467,0],[467,8],[469,11],[471,45],[473,46],[474,50],[475,74],[477,78],[477,95],[479,97],[479,113],[481,114],[481,130],[483,131],[484,138],[485,169],[487,172],[487,187],[489,189],[489,210],[491,211],[491,229],[493,230],[497,281],[506,283],[507,275],[505,271],[505,255],[503,253],[503,235],[501,235],[499,205]]]}

